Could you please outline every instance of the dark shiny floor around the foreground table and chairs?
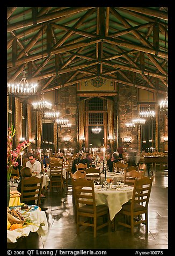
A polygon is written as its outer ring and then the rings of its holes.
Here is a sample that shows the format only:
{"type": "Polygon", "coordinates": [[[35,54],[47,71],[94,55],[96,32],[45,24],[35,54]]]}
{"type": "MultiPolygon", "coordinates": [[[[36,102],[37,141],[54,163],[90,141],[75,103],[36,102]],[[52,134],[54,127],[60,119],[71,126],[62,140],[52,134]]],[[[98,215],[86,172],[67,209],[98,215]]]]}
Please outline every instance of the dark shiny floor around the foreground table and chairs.
{"type": "MultiPolygon", "coordinates": [[[[151,167],[152,168],[152,167],[151,167]]],[[[48,208],[48,236],[45,243],[37,233],[30,233],[27,238],[18,239],[16,248],[23,249],[167,249],[168,248],[168,172],[153,170],[155,179],[149,201],[149,232],[145,236],[145,226],[135,227],[135,234],[117,224],[120,216],[116,217],[116,231],[107,232],[107,228],[97,232],[93,238],[93,231],[86,229],[76,235],[75,209],[72,204],[72,187],[69,184],[62,195],[58,191],[46,193],[47,199],[42,207],[48,208]]],[[[148,175],[148,174],[147,174],[148,175]]],[[[83,229],[83,227],[82,227],[83,229]]]]}

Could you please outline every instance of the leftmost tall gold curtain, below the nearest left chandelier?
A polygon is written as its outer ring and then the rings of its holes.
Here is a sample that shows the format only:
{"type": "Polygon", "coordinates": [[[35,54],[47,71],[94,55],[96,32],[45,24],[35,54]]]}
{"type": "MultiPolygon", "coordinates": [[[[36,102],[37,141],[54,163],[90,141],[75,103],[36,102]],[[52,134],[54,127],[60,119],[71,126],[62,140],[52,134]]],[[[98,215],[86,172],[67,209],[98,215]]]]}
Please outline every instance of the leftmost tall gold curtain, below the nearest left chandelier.
{"type": "Polygon", "coordinates": [[[14,113],[14,127],[16,130],[15,144],[18,145],[20,138],[22,138],[22,103],[19,98],[15,98],[15,113],[14,113]]]}

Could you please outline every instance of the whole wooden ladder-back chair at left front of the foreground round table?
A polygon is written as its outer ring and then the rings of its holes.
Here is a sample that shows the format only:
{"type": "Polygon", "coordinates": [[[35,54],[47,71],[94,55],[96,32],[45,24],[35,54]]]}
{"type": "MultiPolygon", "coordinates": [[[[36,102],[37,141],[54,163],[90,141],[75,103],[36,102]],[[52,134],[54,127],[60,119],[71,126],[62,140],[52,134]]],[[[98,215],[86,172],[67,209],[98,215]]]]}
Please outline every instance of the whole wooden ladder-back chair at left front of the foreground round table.
{"type": "Polygon", "coordinates": [[[82,225],[93,227],[93,237],[96,237],[97,230],[104,226],[108,226],[109,231],[110,221],[108,207],[106,205],[96,206],[93,181],[88,181],[84,178],[72,179],[72,186],[76,200],[77,234],[79,234],[79,227],[82,225]],[[83,187],[89,187],[90,189],[83,189],[83,187]],[[103,218],[102,224],[98,223],[100,221],[99,217],[106,217],[103,218]]]}

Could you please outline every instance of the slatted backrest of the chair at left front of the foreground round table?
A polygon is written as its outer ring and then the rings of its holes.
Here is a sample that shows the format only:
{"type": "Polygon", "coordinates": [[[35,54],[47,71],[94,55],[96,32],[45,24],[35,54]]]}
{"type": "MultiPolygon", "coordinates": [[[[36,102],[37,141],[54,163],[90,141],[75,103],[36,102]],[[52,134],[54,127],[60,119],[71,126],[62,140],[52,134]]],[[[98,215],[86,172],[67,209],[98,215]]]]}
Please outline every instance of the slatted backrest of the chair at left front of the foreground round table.
{"type": "Polygon", "coordinates": [[[74,197],[76,200],[76,208],[82,206],[82,204],[92,205],[93,212],[96,212],[96,198],[94,193],[94,184],[92,180],[86,180],[84,178],[72,179],[72,187],[74,191],[74,197]]]}

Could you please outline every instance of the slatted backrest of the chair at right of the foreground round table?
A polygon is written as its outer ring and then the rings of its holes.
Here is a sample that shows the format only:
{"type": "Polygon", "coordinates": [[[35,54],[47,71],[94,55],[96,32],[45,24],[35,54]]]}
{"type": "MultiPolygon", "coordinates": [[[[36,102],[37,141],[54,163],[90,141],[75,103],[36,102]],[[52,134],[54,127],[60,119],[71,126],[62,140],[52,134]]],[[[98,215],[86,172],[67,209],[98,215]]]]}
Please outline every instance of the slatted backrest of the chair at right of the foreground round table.
{"type": "Polygon", "coordinates": [[[148,209],[148,203],[152,188],[152,181],[154,176],[142,177],[134,181],[133,197],[131,201],[131,211],[134,211],[135,204],[142,204],[145,209],[148,209]]]}

